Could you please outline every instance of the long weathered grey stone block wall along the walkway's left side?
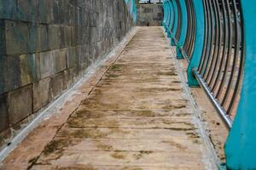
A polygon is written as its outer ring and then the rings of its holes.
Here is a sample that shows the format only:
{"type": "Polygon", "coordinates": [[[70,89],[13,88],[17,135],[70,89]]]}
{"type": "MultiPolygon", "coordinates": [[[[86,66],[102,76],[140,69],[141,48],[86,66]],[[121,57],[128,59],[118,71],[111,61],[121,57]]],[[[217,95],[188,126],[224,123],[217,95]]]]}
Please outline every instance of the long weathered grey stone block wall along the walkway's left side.
{"type": "Polygon", "coordinates": [[[125,0],[0,0],[0,145],[133,26],[125,0]]]}

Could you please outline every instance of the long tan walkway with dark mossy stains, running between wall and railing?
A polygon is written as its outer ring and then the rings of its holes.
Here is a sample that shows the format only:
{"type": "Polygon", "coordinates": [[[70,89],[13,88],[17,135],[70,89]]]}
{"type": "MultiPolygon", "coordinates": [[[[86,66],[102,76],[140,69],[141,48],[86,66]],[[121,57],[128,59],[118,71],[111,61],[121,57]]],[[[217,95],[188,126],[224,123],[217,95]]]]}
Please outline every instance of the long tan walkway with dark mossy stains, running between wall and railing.
{"type": "Polygon", "coordinates": [[[160,27],[140,27],[29,169],[209,169],[160,27]]]}

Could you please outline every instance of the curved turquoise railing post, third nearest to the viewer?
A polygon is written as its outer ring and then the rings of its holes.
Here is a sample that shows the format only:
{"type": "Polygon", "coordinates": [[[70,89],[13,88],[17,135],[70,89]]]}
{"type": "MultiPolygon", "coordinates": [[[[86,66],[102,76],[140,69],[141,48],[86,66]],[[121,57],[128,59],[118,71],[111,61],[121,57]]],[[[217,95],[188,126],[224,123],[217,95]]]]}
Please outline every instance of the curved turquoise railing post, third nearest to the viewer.
{"type": "Polygon", "coordinates": [[[187,36],[187,27],[188,27],[188,14],[187,14],[187,6],[185,0],[180,0],[181,12],[182,12],[182,27],[181,27],[181,35],[179,41],[177,42],[177,59],[183,59],[183,54],[181,52],[181,48],[186,40],[187,36]]]}

